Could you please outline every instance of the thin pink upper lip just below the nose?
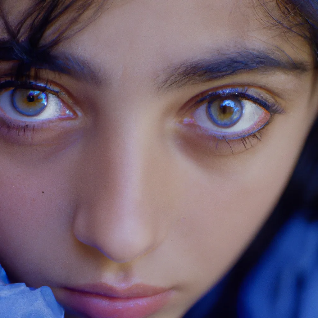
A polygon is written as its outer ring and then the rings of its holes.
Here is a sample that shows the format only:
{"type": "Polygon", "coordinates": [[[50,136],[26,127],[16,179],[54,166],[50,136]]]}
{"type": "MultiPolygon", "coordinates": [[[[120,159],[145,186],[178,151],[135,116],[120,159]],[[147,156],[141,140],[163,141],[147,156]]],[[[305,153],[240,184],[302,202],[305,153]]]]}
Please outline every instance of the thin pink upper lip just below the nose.
{"type": "Polygon", "coordinates": [[[84,284],[74,287],[66,287],[66,289],[73,290],[75,292],[89,293],[114,298],[150,297],[169,290],[169,288],[155,287],[146,284],[135,284],[129,287],[121,288],[114,287],[106,283],[84,284]]]}

